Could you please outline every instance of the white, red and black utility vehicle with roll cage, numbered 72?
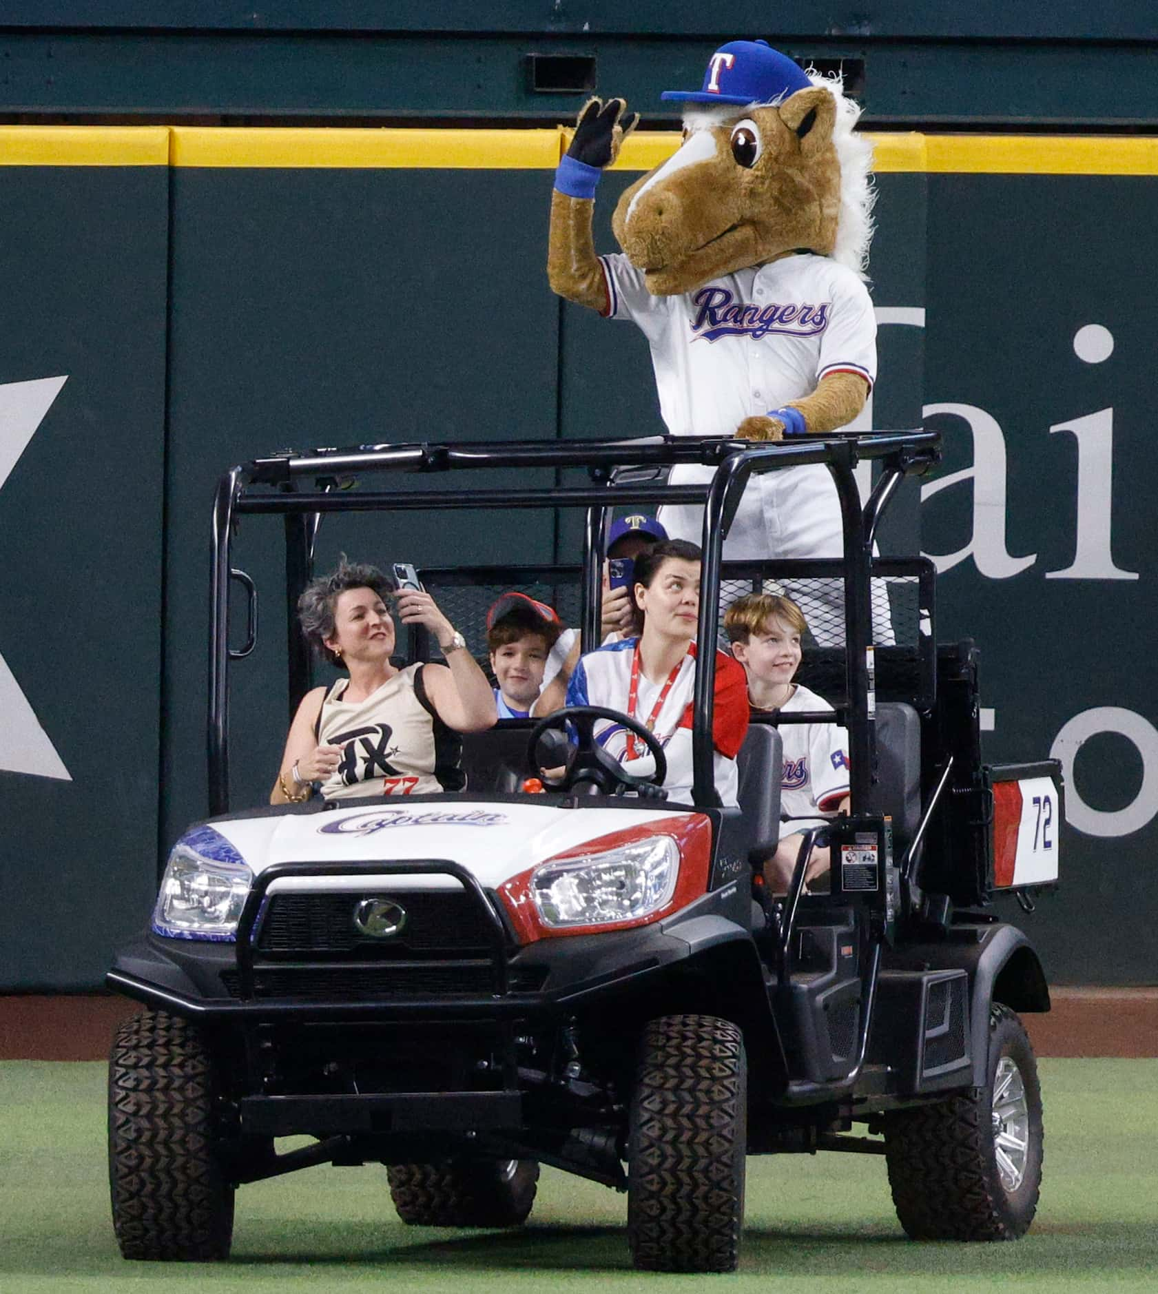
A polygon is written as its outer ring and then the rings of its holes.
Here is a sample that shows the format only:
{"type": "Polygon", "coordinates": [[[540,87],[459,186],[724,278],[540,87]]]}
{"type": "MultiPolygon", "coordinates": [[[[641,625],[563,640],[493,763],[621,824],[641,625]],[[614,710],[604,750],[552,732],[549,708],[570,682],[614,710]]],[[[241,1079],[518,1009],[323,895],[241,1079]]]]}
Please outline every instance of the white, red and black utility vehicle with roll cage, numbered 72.
{"type": "MultiPolygon", "coordinates": [[[[1030,890],[1056,883],[1062,783],[1051,761],[982,763],[977,650],[937,646],[930,563],[873,555],[895,487],[937,458],[937,436],[913,431],[370,445],[228,472],[213,514],[210,817],[177,841],[151,927],[107,977],[144,1004],[110,1068],[124,1256],[224,1259],[238,1187],[326,1163],[384,1165],[408,1223],[515,1225],[546,1163],[626,1192],[637,1267],[730,1271],[747,1157],[819,1150],[881,1156],[916,1240],[1022,1234],[1042,1100],[1017,1012],[1048,1011],[1049,992],[991,899],[1016,890],[1029,908],[1030,890]],[[674,463],[714,474],[652,479],[674,463]],[[725,563],[748,477],[803,463],[836,483],[844,558],[725,563]],[[863,505],[859,463],[876,474],[863,505]],[[515,481],[554,468],[565,484],[475,489],[479,468],[515,481]],[[230,806],[229,674],[254,638],[230,647],[230,594],[256,597],[230,564],[243,519],[283,521],[292,608],[326,514],[389,511],[397,534],[415,509],[585,510],[573,564],[421,572],[481,657],[485,607],[512,587],[596,646],[608,521],[661,502],[705,507],[701,643],[741,590],[844,590],[838,621],[813,624],[800,675],[850,739],[851,810],[824,831],[829,893],[805,893],[815,829],[783,901],[759,884],[779,835],[780,734],[752,723],[740,805],[723,807],[710,651],[690,804],[639,795],[593,741],[598,716],[571,710],[468,738],[462,793],[230,806]],[[873,602],[891,621],[879,642],[873,602]],[[568,722],[562,788],[533,789],[542,730],[568,722]]],[[[415,631],[402,642],[408,659],[431,646],[415,631]]],[[[292,705],[311,685],[296,637],[289,678],[292,705]]]]}

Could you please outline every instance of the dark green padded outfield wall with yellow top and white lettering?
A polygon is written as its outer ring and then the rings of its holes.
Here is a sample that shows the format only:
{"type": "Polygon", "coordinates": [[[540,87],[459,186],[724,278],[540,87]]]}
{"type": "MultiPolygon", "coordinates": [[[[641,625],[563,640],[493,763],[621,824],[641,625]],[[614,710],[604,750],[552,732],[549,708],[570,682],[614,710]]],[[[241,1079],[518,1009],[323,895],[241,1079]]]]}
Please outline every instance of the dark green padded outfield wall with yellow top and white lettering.
{"type": "MultiPolygon", "coordinates": [[[[100,983],[206,811],[210,509],[286,446],[661,430],[630,325],[546,283],[565,132],[0,128],[0,990],[100,983]]],[[[596,202],[675,146],[629,141],[596,202]]],[[[1061,982],[1153,982],[1158,712],[1149,265],[1158,141],[876,137],[880,375],[864,426],[945,461],[886,547],[923,547],[941,637],[982,651],[992,760],[1067,776],[1062,886],[1022,919],[1061,982]]],[[[233,672],[233,797],[285,732],[278,523],[233,672]]],[[[573,520],[330,518],[339,553],[567,559],[573,520]]],[[[245,625],[235,626],[238,641],[245,625]]]]}

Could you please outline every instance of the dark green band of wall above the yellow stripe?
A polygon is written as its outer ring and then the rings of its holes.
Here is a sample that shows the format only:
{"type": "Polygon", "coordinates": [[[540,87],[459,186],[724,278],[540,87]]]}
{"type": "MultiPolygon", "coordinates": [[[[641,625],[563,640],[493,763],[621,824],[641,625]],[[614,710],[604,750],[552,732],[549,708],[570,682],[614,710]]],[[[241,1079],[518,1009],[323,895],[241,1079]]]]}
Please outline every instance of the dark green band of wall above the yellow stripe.
{"type": "Polygon", "coordinates": [[[872,124],[1153,131],[1153,5],[6,4],[14,122],[305,124],[572,119],[595,91],[677,122],[722,41],[763,38],[840,70],[872,124]],[[562,65],[562,71],[560,71],[562,65]],[[1127,89],[1128,87],[1128,89],[1127,89]]]}

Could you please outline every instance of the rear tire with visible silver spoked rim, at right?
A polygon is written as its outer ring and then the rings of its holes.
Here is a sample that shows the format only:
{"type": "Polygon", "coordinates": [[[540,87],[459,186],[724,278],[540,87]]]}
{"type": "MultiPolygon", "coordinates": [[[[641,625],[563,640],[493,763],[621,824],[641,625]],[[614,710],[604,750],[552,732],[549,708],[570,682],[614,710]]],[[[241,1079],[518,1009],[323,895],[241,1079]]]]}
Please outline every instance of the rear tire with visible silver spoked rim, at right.
{"type": "Polygon", "coordinates": [[[1014,1012],[1000,1003],[990,1011],[985,1087],[889,1114],[885,1154],[897,1216],[913,1240],[1017,1240],[1029,1231],[1042,1187],[1042,1088],[1014,1012]],[[1005,1145],[1014,1143],[1025,1148],[1011,1158],[1005,1145]]]}

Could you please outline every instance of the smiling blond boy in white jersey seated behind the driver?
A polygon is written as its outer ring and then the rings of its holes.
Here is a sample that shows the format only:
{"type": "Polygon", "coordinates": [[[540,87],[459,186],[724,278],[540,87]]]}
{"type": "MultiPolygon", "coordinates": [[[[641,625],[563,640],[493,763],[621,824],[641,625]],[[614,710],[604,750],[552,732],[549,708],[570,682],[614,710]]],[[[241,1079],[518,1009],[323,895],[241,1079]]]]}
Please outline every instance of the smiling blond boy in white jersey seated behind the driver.
{"type": "MultiPolygon", "coordinates": [[[[792,681],[800,668],[801,635],[807,625],[791,598],[748,594],[728,607],[723,626],[732,655],[748,675],[754,718],[832,713],[823,696],[792,681]]],[[[803,828],[823,826],[849,809],[849,735],[838,725],[823,721],[779,727],[784,749],[780,813],[789,820],[780,823],[780,842],[763,871],[772,893],[783,894],[792,880],[803,828]]],[[[828,867],[827,846],[814,848],[805,884],[823,876],[828,867]]]]}

